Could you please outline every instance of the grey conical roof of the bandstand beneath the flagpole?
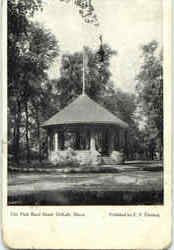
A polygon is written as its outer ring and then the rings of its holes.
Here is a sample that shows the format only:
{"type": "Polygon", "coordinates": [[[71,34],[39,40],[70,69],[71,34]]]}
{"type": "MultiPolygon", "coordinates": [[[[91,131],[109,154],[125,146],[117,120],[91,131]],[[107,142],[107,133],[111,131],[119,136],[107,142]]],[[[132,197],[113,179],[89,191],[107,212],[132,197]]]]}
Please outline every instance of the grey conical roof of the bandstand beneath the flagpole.
{"type": "Polygon", "coordinates": [[[75,101],[42,124],[50,127],[63,124],[112,124],[128,128],[128,124],[91,100],[87,95],[80,95],[75,101]]]}

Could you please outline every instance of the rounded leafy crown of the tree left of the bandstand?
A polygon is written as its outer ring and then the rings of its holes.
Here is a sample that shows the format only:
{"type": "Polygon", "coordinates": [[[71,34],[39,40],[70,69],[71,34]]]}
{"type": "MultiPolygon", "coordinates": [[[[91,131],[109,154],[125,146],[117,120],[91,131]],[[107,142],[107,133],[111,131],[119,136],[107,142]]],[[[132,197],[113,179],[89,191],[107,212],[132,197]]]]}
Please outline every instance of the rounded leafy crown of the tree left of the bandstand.
{"type": "MultiPolygon", "coordinates": [[[[41,88],[43,80],[47,80],[46,70],[57,56],[57,41],[48,30],[39,24],[28,24],[28,36],[18,44],[18,56],[10,54],[8,49],[9,97],[24,101],[41,88]],[[25,45],[23,44],[25,43],[25,45]],[[11,59],[15,57],[17,65],[11,59]],[[12,66],[13,65],[13,66],[12,66]],[[14,68],[16,66],[16,70],[14,68]],[[12,69],[13,67],[13,69],[12,69]]],[[[36,93],[37,94],[37,93],[36,93]]]]}

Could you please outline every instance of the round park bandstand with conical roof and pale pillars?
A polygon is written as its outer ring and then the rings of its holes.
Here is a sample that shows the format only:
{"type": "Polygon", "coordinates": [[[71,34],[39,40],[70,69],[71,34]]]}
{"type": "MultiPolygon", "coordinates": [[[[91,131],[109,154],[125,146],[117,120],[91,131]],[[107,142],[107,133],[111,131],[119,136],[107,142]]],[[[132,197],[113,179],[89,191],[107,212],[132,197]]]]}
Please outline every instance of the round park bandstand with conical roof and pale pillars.
{"type": "Polygon", "coordinates": [[[48,135],[48,157],[72,148],[78,154],[97,151],[109,156],[125,147],[128,124],[94,102],[86,94],[42,124],[48,135]]]}

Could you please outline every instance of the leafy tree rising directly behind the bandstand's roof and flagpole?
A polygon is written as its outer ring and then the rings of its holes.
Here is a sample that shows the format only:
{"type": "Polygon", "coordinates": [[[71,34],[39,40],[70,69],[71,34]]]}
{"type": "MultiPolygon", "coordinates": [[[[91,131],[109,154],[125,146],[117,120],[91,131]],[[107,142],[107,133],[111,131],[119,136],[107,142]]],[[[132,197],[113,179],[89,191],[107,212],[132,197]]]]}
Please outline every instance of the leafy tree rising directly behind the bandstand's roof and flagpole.
{"type": "MultiPolygon", "coordinates": [[[[113,89],[110,81],[110,58],[116,54],[104,45],[105,60],[99,62],[97,51],[85,48],[87,58],[85,69],[85,92],[94,100],[99,100],[106,92],[113,89]]],[[[60,78],[54,80],[59,95],[61,108],[82,93],[83,53],[64,54],[61,61],[60,78]]]]}

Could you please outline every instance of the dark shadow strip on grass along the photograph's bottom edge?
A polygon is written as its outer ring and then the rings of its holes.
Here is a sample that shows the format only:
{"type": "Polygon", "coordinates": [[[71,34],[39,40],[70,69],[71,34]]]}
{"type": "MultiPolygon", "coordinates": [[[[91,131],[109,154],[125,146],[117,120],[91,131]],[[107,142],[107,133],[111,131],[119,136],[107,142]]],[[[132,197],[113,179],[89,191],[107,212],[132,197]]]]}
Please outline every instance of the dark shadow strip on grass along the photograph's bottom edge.
{"type": "Polygon", "coordinates": [[[163,191],[40,191],[8,197],[8,205],[160,205],[163,191]]]}

